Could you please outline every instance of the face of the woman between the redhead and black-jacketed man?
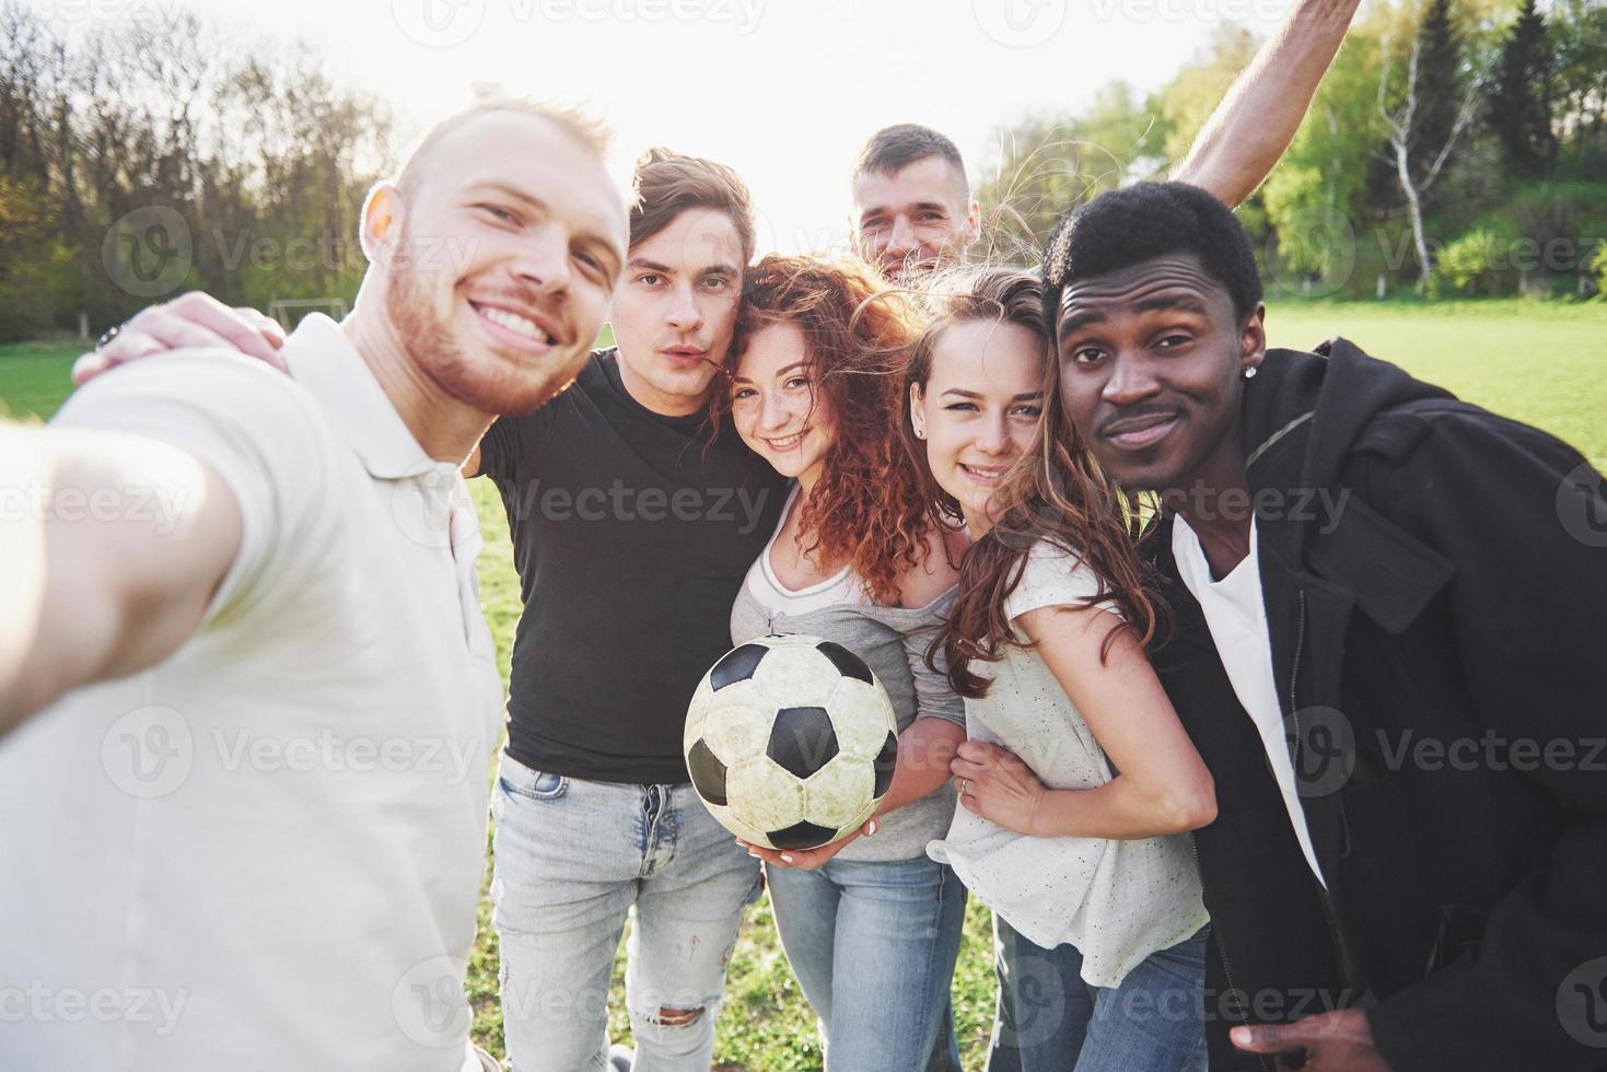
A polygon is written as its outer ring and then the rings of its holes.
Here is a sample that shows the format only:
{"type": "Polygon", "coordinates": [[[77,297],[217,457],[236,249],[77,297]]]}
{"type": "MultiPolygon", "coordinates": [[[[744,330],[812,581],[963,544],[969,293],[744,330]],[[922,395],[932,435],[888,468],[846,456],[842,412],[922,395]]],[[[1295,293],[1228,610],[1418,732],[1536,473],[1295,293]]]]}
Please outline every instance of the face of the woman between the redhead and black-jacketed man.
{"type": "Polygon", "coordinates": [[[932,347],[926,387],[910,387],[910,419],[938,487],[959,501],[971,534],[993,524],[1004,474],[1032,450],[1043,416],[1043,339],[1022,325],[967,320],[932,347]]]}

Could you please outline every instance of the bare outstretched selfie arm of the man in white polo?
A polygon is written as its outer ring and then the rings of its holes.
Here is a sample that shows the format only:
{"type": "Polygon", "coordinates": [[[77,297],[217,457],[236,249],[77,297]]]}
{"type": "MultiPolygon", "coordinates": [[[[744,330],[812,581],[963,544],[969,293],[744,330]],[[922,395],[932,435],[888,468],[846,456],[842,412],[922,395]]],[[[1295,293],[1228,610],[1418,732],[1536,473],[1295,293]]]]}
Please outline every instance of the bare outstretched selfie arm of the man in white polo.
{"type": "Polygon", "coordinates": [[[228,487],[138,436],[0,423],[0,734],[177,651],[239,551],[228,487]]]}

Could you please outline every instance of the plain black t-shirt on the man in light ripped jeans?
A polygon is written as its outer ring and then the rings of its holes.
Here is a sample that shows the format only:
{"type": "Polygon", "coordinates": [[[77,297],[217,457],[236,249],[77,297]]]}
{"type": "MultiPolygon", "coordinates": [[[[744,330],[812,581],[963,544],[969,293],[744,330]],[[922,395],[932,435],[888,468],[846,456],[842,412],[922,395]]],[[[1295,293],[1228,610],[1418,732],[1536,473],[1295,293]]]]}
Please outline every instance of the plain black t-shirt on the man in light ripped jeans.
{"type": "Polygon", "coordinates": [[[480,442],[501,492],[524,614],[508,752],[542,771],[685,783],[681,728],[731,646],[731,603],[775,532],[786,481],[734,429],[660,416],[598,350],[575,384],[480,442]]]}

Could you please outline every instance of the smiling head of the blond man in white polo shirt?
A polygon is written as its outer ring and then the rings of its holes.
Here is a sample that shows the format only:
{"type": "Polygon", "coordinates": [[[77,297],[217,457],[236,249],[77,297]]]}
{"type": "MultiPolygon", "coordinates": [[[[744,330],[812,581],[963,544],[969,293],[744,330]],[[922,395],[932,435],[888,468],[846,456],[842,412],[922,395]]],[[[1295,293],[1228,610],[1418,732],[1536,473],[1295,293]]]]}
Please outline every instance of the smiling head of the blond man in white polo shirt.
{"type": "Polygon", "coordinates": [[[625,254],[596,154],[548,119],[489,113],[448,132],[407,190],[365,206],[408,360],[482,413],[529,413],[587,360],[625,254]]]}

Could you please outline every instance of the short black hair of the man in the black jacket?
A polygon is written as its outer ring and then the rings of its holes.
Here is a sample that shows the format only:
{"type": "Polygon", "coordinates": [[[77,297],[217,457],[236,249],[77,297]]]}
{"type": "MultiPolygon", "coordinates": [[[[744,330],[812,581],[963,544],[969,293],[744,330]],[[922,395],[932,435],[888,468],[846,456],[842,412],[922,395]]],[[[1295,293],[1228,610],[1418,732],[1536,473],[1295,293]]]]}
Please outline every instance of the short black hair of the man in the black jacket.
{"type": "Polygon", "coordinates": [[[1120,272],[1167,254],[1194,254],[1244,320],[1261,302],[1261,273],[1250,236],[1233,211],[1199,186],[1141,182],[1077,206],[1043,254],[1045,318],[1054,338],[1067,283],[1120,272]]]}

